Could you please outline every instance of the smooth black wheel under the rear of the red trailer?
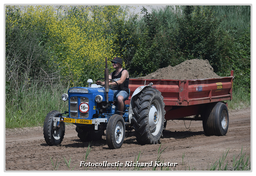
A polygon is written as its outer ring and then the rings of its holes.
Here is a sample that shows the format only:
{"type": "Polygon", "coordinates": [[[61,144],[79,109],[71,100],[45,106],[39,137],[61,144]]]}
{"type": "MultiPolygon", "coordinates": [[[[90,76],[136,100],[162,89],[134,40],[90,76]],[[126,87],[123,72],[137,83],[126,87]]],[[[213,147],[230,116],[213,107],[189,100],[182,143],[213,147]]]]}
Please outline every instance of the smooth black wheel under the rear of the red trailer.
{"type": "Polygon", "coordinates": [[[203,128],[206,135],[224,136],[228,132],[228,108],[222,103],[210,105],[203,119],[203,128]]]}

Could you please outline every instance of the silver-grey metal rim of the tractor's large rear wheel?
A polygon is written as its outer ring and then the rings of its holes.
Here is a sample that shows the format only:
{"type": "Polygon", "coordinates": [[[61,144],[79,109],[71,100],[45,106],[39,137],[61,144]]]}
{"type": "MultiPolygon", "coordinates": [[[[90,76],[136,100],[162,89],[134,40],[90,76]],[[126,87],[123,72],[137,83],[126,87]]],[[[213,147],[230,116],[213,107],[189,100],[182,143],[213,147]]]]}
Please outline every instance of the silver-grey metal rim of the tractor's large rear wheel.
{"type": "Polygon", "coordinates": [[[150,132],[153,136],[156,136],[160,131],[161,123],[162,123],[162,112],[160,108],[160,103],[157,100],[152,102],[148,113],[148,124],[150,132]]]}

